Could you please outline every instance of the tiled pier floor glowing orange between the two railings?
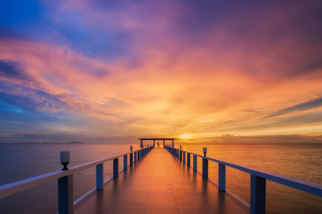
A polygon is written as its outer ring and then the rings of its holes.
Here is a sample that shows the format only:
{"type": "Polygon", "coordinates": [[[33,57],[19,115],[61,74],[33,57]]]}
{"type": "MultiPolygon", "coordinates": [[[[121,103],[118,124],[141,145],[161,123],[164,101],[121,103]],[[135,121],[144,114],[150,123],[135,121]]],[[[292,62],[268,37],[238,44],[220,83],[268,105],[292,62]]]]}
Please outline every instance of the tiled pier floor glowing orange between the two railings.
{"type": "Polygon", "coordinates": [[[162,146],[151,150],[103,190],[93,194],[75,214],[249,212],[162,146]]]}

